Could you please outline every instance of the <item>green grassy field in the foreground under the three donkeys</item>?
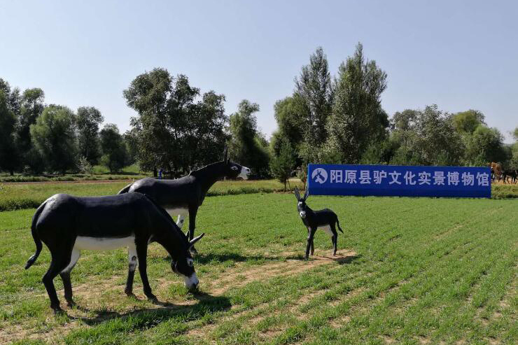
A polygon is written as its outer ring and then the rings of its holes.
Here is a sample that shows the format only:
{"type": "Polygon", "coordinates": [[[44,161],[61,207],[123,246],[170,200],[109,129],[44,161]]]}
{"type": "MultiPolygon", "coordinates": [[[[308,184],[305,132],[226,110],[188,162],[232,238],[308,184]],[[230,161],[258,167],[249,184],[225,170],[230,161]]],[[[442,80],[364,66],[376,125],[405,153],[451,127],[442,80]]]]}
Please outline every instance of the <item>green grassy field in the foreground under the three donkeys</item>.
{"type": "MultiPolygon", "coordinates": [[[[217,183],[216,185],[222,185],[217,183]]],[[[114,188],[114,190],[117,190],[114,188]]],[[[123,293],[127,253],[83,251],[72,272],[78,308],[54,316],[34,253],[34,209],[0,213],[0,343],[27,344],[516,344],[516,199],[309,197],[332,208],[345,234],[339,257],[306,231],[295,197],[205,199],[197,219],[200,293],[152,244],[148,276],[123,293]]],[[[65,307],[62,284],[55,279],[65,307]]]]}

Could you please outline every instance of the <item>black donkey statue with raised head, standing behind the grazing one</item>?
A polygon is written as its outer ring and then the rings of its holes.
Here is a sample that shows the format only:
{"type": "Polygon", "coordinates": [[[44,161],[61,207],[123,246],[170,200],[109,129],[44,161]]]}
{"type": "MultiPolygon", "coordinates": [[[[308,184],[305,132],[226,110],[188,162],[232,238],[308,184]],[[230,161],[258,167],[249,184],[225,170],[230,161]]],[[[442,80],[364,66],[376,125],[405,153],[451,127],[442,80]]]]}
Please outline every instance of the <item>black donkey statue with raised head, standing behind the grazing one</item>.
{"type": "MultiPolygon", "coordinates": [[[[188,239],[193,239],[196,227],[196,214],[198,208],[202,206],[209,188],[223,177],[241,177],[246,180],[248,174],[250,174],[250,169],[230,162],[227,156],[227,148],[225,148],[221,162],[212,163],[201,169],[191,171],[188,176],[176,178],[175,180],[143,178],[127,185],[120,190],[119,194],[141,192],[149,195],[172,217],[178,215],[176,224],[180,229],[183,227],[185,214],[189,213],[188,239]]],[[[191,250],[193,254],[196,253],[194,247],[191,250]]]]}

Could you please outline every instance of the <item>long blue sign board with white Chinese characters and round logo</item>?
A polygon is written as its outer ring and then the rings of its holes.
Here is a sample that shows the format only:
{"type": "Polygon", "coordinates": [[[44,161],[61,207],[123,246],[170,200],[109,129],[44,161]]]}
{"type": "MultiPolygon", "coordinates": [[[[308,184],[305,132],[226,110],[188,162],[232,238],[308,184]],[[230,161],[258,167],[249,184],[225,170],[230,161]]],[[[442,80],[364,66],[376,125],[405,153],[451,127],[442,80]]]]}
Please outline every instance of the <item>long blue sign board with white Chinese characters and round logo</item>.
{"type": "Polygon", "coordinates": [[[310,195],[491,197],[489,167],[309,164],[310,195]]]}

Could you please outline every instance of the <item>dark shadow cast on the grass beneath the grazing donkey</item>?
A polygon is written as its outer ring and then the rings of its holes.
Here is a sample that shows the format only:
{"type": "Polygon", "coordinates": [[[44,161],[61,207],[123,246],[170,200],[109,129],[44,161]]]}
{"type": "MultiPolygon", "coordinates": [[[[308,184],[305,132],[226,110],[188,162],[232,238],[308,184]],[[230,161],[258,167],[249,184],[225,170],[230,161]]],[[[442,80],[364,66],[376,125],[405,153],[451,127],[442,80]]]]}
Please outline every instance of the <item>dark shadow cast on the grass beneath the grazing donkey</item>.
{"type": "Polygon", "coordinates": [[[76,306],[78,310],[93,313],[96,316],[91,318],[76,318],[68,314],[66,316],[71,320],[80,320],[89,326],[103,327],[105,325],[107,328],[113,327],[109,325],[110,321],[118,319],[118,325],[125,325],[123,326],[125,330],[130,329],[134,332],[135,330],[153,328],[173,318],[179,321],[194,321],[209,313],[228,310],[232,306],[228,297],[212,296],[207,293],[194,293],[193,297],[197,300],[195,304],[172,304],[157,301],[155,302],[156,308],[144,308],[127,313],[118,313],[106,309],[92,310],[76,306]]]}

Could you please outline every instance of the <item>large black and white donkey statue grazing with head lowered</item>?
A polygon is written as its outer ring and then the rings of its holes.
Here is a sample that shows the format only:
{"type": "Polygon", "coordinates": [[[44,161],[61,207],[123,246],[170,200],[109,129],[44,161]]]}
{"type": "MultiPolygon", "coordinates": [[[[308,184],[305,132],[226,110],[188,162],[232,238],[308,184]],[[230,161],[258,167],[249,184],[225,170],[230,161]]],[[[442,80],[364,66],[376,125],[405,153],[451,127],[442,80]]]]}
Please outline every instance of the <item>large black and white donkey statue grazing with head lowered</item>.
{"type": "Polygon", "coordinates": [[[173,272],[183,276],[186,287],[195,289],[199,283],[190,247],[204,234],[188,241],[174,220],[153,199],[141,193],[127,193],[107,197],[73,197],[57,194],[41,204],[32,218],[32,237],[36,253],[29,258],[25,269],[38,258],[43,242],[52,260],[43,276],[43,284],[50,298],[50,307],[59,311],[59,300],[52,282],[58,274],[63,280],[64,297],[72,306],[70,272],[81,250],[109,250],[127,247],[130,260],[125,293],[133,295],[135,268],[144,286],[144,294],[156,301],[146,272],[148,244],[156,241],[172,258],[173,272]]]}

